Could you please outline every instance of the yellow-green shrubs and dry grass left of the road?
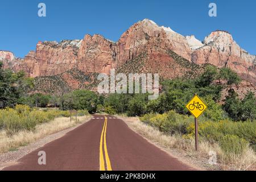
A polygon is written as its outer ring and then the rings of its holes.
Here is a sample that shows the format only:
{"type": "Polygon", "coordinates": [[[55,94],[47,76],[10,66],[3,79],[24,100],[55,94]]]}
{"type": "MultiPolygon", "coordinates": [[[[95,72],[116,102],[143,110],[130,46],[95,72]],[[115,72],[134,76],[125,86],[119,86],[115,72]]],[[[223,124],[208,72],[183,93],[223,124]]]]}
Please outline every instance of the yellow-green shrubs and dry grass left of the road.
{"type": "Polygon", "coordinates": [[[87,110],[69,111],[16,105],[0,110],[0,153],[16,150],[36,139],[77,125],[90,118],[87,110]]]}

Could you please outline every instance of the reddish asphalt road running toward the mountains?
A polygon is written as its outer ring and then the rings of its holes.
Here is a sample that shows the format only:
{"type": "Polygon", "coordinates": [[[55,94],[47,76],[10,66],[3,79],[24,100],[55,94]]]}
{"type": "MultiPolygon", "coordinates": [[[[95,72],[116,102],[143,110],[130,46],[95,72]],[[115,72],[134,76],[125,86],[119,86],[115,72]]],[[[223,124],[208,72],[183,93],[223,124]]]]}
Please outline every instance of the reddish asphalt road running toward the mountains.
{"type": "Polygon", "coordinates": [[[95,119],[23,156],[17,164],[3,170],[195,170],[149,143],[129,129],[122,119],[106,117],[94,115],[95,119]],[[46,165],[38,164],[39,151],[46,152],[46,165]]]}

